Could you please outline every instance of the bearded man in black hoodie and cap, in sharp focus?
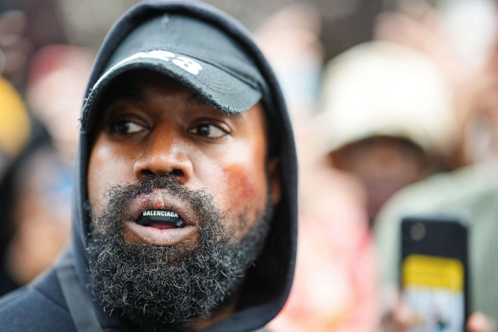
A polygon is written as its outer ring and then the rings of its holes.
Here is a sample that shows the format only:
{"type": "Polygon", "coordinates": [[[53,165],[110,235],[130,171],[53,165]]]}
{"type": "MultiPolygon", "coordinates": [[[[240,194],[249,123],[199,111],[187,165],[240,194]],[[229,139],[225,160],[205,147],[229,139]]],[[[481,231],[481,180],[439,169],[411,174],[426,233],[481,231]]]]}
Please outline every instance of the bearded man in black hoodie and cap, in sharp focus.
{"type": "Polygon", "coordinates": [[[296,157],[245,30],[205,5],[140,4],[88,87],[72,246],[0,302],[1,329],[264,326],[292,283],[296,157]]]}

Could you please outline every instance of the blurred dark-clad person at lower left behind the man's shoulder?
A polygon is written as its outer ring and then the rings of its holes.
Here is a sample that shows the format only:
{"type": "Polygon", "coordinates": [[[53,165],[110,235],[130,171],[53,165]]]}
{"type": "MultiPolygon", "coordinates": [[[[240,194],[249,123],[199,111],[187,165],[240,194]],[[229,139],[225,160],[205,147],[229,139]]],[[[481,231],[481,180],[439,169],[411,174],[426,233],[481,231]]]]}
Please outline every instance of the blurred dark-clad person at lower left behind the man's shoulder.
{"type": "Polygon", "coordinates": [[[35,120],[31,128],[29,144],[0,181],[0,207],[5,224],[2,233],[6,236],[2,293],[31,281],[50,265],[67,242],[67,223],[58,223],[57,214],[51,209],[62,204],[61,198],[67,200],[64,196],[53,197],[55,185],[51,181],[58,169],[46,167],[47,160],[39,158],[39,151],[51,146],[50,136],[35,120]],[[49,173],[41,173],[47,168],[49,173]],[[59,233],[66,235],[58,236],[59,233]]]}

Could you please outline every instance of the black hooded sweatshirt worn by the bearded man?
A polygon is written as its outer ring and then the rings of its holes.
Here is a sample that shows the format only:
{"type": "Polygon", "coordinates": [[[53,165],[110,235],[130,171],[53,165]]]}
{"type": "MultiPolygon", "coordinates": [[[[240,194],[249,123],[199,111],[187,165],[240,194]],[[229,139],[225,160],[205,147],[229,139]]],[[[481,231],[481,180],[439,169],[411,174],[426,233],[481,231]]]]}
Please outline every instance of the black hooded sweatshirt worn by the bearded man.
{"type": "MultiPolygon", "coordinates": [[[[255,330],[265,326],[275,317],[283,307],[291,288],[296,253],[297,162],[292,129],[277,80],[248,32],[230,17],[204,4],[141,3],[126,13],[105,38],[92,69],[85,98],[102,75],[105,64],[120,41],[144,20],[164,13],[194,16],[222,29],[244,48],[268,84],[267,91],[264,91],[263,104],[270,127],[268,132],[274,134],[272,139],[276,140],[276,144],[272,145],[277,146],[277,153],[280,156],[281,202],[276,207],[262,255],[246,273],[235,312],[230,317],[205,329],[206,331],[255,330]]],[[[87,288],[88,259],[84,250],[90,218],[83,208],[87,201],[87,166],[90,144],[89,129],[83,128],[76,160],[72,243],[66,250],[69,253],[66,258],[70,257],[69,262],[74,266],[75,282],[89,298],[93,298],[91,291],[87,288]]],[[[51,269],[30,285],[3,297],[0,300],[0,330],[76,330],[69,310],[71,304],[64,297],[63,287],[57,275],[56,269],[51,269]]],[[[93,306],[102,330],[126,331],[136,328],[131,327],[132,324],[125,318],[104,312],[95,301],[88,303],[88,310],[91,310],[90,306],[93,306]]],[[[155,326],[155,329],[169,330],[164,326],[155,326]]]]}

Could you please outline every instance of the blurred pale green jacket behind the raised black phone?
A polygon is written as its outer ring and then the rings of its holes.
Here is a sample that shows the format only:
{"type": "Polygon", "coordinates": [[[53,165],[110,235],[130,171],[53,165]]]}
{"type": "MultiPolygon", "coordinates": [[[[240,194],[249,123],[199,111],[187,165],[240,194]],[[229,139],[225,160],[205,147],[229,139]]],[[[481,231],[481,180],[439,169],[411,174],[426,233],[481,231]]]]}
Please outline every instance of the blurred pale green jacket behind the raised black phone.
{"type": "Polygon", "coordinates": [[[374,236],[383,286],[399,284],[401,219],[459,216],[469,224],[470,311],[498,320],[498,168],[469,166],[436,174],[396,194],[381,210],[374,236]]]}

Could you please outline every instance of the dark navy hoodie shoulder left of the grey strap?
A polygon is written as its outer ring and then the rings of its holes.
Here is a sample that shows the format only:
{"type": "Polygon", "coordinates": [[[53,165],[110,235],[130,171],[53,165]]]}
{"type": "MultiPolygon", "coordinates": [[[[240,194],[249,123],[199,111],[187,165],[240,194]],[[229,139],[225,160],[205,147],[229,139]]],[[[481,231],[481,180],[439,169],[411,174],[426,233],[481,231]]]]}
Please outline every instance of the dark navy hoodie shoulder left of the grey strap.
{"type": "Polygon", "coordinates": [[[53,270],[0,297],[0,331],[76,331],[53,270]]]}

